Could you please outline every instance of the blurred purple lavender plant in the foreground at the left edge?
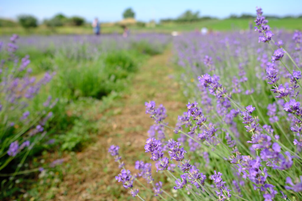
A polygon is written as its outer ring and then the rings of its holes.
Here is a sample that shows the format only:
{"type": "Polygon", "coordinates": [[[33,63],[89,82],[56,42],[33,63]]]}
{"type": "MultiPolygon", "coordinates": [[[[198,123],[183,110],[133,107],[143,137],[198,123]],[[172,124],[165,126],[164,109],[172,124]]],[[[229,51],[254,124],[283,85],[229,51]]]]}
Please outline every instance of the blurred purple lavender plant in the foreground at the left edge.
{"type": "Polygon", "coordinates": [[[17,40],[18,36],[13,35],[0,48],[0,176],[11,179],[38,171],[22,170],[23,164],[37,143],[43,142],[47,134],[44,128],[53,117],[52,108],[57,102],[51,96],[39,96],[54,74],[46,72],[39,80],[32,76],[30,56],[19,58],[16,54],[17,40]]]}

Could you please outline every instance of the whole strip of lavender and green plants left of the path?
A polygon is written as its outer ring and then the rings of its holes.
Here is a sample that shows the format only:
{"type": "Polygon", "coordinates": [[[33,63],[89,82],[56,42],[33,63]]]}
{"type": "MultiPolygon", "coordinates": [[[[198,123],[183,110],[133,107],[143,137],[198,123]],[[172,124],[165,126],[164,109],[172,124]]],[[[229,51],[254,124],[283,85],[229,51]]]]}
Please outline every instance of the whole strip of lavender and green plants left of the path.
{"type": "MultiPolygon", "coordinates": [[[[7,190],[6,187],[11,188],[18,179],[17,175],[46,171],[62,163],[62,160],[54,160],[50,165],[41,164],[39,167],[36,164],[29,167],[28,156],[40,154],[45,147],[49,148],[48,144],[54,143],[50,133],[62,133],[60,129],[65,124],[68,124],[69,128],[72,127],[73,122],[65,118],[69,102],[76,102],[79,97],[97,97],[97,87],[106,87],[106,94],[101,95],[107,95],[107,92],[112,90],[108,89],[108,86],[112,87],[116,83],[124,85],[118,80],[117,73],[122,71],[120,80],[124,79],[127,74],[134,72],[133,69],[137,66],[131,55],[124,55],[127,52],[125,50],[142,42],[147,45],[140,50],[148,48],[156,53],[164,49],[169,42],[169,36],[148,34],[125,39],[121,36],[19,38],[13,35],[0,40],[0,181],[3,187],[1,198],[7,190]],[[150,41],[155,43],[151,44],[150,41]],[[27,55],[28,52],[35,54],[30,56],[27,55]],[[47,71],[36,68],[45,61],[51,61],[52,67],[47,71]],[[95,94],[92,91],[96,91],[95,94]]],[[[145,52],[137,54],[140,53],[145,52]]],[[[137,54],[135,53],[135,56],[137,54]]],[[[117,87],[119,86],[115,88],[117,87]]],[[[73,118],[79,119],[75,122],[83,121],[80,117],[73,118]]],[[[67,131],[64,133],[68,134],[67,131]]],[[[76,146],[76,143],[83,141],[81,138],[74,139],[74,136],[66,138],[73,141],[58,142],[59,147],[62,148],[66,144],[67,148],[72,150],[70,144],[76,146]]],[[[62,139],[65,139],[62,135],[57,137],[57,140],[62,139]]]]}

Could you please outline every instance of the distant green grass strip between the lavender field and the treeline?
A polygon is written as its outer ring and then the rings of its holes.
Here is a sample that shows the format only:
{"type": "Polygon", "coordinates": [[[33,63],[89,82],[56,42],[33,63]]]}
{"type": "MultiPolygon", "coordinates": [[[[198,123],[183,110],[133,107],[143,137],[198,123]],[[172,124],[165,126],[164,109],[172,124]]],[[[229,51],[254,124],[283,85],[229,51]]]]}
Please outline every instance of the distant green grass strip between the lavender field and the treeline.
{"type": "MultiPolygon", "coordinates": [[[[200,30],[202,27],[207,27],[212,31],[228,31],[228,30],[246,30],[249,29],[249,23],[254,24],[254,19],[224,19],[224,20],[203,20],[200,22],[192,23],[165,23],[156,25],[156,27],[139,27],[130,26],[130,33],[171,33],[172,31],[188,32],[200,30]]],[[[272,28],[287,29],[287,30],[301,30],[302,18],[284,18],[284,19],[269,19],[269,24],[272,28]]],[[[19,35],[29,34],[93,34],[90,26],[83,27],[57,27],[50,29],[45,26],[40,26],[36,29],[29,31],[24,30],[22,27],[1,27],[0,35],[11,35],[13,33],[19,35]]],[[[123,33],[123,29],[117,25],[101,25],[101,33],[123,33]]]]}

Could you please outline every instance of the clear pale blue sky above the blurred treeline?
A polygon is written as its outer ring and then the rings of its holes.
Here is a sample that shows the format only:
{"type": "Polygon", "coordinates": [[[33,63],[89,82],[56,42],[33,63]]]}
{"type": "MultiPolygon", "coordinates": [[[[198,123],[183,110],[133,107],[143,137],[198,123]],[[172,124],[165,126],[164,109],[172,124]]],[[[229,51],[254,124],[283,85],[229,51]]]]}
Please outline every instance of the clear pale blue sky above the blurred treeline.
{"type": "Polygon", "coordinates": [[[19,14],[33,14],[39,20],[54,14],[79,15],[92,21],[117,21],[125,8],[131,7],[138,20],[149,21],[177,17],[185,10],[200,11],[201,15],[227,17],[230,14],[255,14],[262,7],[266,15],[301,15],[302,0],[0,0],[0,17],[15,19],[19,14]]]}

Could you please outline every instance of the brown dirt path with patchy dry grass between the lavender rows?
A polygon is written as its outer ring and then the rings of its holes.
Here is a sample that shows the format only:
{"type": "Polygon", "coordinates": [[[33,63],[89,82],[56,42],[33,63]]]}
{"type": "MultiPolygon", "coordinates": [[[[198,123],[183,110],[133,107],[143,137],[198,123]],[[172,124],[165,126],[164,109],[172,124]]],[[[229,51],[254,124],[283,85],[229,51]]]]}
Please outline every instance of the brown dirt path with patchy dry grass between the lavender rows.
{"type": "Polygon", "coordinates": [[[154,100],[163,104],[172,121],[181,114],[180,109],[185,109],[179,85],[172,79],[175,70],[171,56],[168,49],[146,61],[134,77],[130,93],[120,100],[124,106],[113,108],[116,115],[101,126],[98,140],[68,161],[71,168],[59,184],[55,200],[117,200],[117,197],[125,200],[129,197],[129,192],[114,179],[120,169],[108,154],[108,147],[119,145],[125,167],[132,170],[136,160],[149,159],[143,147],[153,120],[145,114],[144,102],[154,100]]]}

